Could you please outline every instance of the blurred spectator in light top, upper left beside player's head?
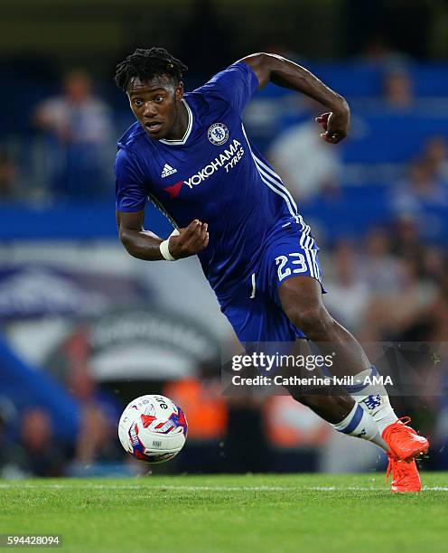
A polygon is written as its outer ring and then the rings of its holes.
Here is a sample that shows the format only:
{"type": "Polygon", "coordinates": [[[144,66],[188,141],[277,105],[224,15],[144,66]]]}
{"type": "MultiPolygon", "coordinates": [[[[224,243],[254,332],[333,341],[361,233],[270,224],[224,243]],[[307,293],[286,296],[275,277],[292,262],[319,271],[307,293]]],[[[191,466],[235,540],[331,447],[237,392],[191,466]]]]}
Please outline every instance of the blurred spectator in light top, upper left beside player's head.
{"type": "Polygon", "coordinates": [[[65,76],[63,93],[35,109],[34,123],[49,137],[53,195],[91,198],[106,192],[115,155],[112,119],[84,71],[65,76]]]}

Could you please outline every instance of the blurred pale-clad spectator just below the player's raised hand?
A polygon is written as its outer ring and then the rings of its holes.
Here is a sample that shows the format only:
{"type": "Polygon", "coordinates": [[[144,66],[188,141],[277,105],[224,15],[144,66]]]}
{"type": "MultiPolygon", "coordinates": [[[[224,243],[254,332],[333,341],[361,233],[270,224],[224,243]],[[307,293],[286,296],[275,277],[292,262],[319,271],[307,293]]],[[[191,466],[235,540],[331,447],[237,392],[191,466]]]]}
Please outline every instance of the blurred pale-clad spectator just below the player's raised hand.
{"type": "Polygon", "coordinates": [[[267,154],[294,199],[301,203],[338,188],[341,175],[341,150],[322,140],[311,102],[308,111],[309,120],[277,136],[267,154]]]}

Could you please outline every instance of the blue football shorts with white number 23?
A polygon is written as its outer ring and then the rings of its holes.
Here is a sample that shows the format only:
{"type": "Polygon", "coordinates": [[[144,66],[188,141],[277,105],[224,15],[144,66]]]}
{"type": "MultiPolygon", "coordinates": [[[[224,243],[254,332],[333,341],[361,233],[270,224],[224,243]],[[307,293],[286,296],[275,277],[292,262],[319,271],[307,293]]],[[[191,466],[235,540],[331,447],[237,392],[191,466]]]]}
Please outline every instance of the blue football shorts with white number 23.
{"type": "MultiPolygon", "coordinates": [[[[289,321],[278,295],[288,278],[307,276],[321,283],[317,247],[310,228],[288,218],[269,234],[250,275],[236,286],[221,311],[240,342],[294,342],[306,336],[289,321]],[[283,223],[283,224],[282,224],[283,223]]],[[[323,290],[322,287],[322,292],[323,290]]]]}

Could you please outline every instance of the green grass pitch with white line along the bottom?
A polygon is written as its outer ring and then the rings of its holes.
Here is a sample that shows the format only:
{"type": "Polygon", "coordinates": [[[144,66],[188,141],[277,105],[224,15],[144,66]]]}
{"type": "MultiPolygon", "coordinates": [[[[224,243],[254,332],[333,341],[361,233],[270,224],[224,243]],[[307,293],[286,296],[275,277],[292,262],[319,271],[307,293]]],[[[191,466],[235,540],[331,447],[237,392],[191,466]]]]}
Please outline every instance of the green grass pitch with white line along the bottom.
{"type": "Polygon", "coordinates": [[[61,551],[447,551],[448,473],[393,494],[384,476],[217,475],[0,481],[0,533],[61,551]]]}

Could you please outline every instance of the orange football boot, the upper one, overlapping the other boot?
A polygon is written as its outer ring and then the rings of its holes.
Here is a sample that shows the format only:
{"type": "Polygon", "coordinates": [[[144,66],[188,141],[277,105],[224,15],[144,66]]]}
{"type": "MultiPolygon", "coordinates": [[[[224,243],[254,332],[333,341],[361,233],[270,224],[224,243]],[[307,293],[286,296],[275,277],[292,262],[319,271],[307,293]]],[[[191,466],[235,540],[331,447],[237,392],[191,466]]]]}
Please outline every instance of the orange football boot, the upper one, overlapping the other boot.
{"type": "Polygon", "coordinates": [[[400,461],[412,461],[418,455],[425,454],[429,442],[424,436],[418,436],[413,428],[406,426],[411,417],[398,418],[397,422],[387,426],[383,431],[383,439],[390,453],[400,461]]]}

